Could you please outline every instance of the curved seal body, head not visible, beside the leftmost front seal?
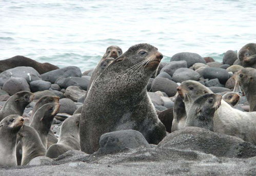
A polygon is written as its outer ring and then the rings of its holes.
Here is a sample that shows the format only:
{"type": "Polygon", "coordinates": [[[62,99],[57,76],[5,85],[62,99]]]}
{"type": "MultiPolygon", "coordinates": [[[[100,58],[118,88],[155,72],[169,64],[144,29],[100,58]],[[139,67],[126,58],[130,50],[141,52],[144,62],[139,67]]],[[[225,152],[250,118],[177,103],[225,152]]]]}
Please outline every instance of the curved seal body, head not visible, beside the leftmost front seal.
{"type": "Polygon", "coordinates": [[[45,156],[46,148],[38,133],[32,127],[23,125],[18,132],[19,143],[22,145],[22,162],[26,165],[35,157],[45,156]]]}

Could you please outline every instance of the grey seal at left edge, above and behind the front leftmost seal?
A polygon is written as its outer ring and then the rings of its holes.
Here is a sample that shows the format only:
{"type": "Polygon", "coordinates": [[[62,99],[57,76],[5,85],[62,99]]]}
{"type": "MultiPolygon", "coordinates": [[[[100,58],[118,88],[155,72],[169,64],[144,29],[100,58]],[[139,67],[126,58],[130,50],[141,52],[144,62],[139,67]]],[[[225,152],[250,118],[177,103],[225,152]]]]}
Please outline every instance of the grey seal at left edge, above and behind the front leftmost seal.
{"type": "Polygon", "coordinates": [[[0,121],[11,114],[22,116],[28,104],[33,100],[34,94],[28,91],[20,91],[12,95],[0,110],[0,121]]]}

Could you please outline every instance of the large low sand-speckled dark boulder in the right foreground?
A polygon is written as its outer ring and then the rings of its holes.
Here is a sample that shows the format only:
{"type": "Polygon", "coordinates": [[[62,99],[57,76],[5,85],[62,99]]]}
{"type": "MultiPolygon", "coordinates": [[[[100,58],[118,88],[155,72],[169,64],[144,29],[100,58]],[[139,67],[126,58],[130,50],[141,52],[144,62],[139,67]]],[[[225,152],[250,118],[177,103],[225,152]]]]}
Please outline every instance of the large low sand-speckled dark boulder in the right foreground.
{"type": "Polygon", "coordinates": [[[256,146],[244,140],[198,127],[186,127],[167,135],[159,147],[191,149],[217,157],[249,158],[256,156],[256,146]]]}

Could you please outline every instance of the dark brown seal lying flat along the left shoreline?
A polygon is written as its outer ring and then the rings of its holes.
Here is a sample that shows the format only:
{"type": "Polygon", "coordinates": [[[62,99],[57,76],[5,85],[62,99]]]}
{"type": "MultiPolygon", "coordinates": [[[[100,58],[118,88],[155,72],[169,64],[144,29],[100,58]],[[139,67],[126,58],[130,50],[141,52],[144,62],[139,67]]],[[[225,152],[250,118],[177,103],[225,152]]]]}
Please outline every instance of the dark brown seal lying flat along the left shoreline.
{"type": "Polygon", "coordinates": [[[14,56],[12,58],[0,61],[0,72],[3,72],[11,68],[19,67],[19,66],[33,67],[40,74],[58,69],[57,66],[47,62],[40,63],[40,62],[36,62],[33,59],[26,58],[24,56],[14,56]]]}

